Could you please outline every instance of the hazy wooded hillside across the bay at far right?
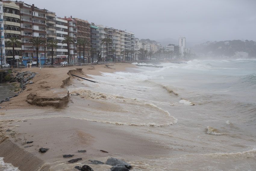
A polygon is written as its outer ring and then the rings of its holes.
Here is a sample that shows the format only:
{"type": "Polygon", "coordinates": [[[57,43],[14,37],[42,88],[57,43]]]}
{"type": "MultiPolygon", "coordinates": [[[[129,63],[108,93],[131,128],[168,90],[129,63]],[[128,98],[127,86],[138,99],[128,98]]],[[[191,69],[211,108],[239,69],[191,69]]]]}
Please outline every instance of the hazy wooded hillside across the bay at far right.
{"type": "Polygon", "coordinates": [[[205,42],[193,47],[195,52],[211,56],[234,56],[235,52],[248,52],[249,57],[256,57],[256,42],[252,40],[226,40],[205,42]]]}

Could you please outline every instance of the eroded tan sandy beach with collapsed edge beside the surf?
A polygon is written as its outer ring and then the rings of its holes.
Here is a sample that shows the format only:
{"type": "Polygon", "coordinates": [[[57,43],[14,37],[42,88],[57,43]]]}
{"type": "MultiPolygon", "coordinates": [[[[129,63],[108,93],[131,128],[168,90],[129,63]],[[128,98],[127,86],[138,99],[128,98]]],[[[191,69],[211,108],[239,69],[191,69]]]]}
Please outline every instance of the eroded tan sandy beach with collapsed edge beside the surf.
{"type": "MultiPolygon", "coordinates": [[[[90,163],[89,160],[100,159],[104,162],[108,157],[123,158],[129,162],[131,156],[167,154],[161,145],[148,141],[146,135],[133,134],[126,126],[109,125],[69,117],[54,116],[62,111],[76,110],[79,106],[99,111],[113,111],[115,106],[99,103],[93,99],[82,99],[69,96],[69,102],[56,108],[55,106],[31,105],[26,100],[33,93],[42,99],[65,95],[67,87],[86,86],[79,78],[70,75],[91,78],[88,75],[100,75],[101,72],[125,71],[136,67],[132,64],[118,63],[106,68],[105,65],[74,66],[62,68],[25,68],[38,72],[26,89],[10,102],[2,103],[0,156],[5,163],[11,163],[20,170],[75,170],[79,165],[67,163],[64,154],[74,154],[82,158],[79,163],[90,163]],[[48,113],[48,114],[45,114],[48,113]],[[33,141],[30,144],[26,142],[33,141]],[[39,148],[49,148],[47,153],[39,153],[39,148]],[[78,150],[86,150],[85,154],[78,150]],[[107,151],[108,153],[100,150],[107,151]],[[18,158],[17,158],[18,157],[18,158]],[[56,165],[56,163],[58,163],[56,165]]],[[[120,110],[120,109],[117,109],[120,110]]],[[[90,164],[89,164],[90,165],[90,164]]],[[[94,170],[110,169],[110,166],[90,165],[94,170]]]]}

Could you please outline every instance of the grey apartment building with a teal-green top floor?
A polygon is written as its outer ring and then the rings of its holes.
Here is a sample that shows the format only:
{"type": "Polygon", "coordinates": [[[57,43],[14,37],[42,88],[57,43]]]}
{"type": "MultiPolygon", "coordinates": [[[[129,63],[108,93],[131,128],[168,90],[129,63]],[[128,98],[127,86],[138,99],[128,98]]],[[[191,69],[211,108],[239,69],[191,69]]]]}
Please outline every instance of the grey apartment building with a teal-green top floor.
{"type": "Polygon", "coordinates": [[[99,46],[99,27],[95,26],[93,23],[90,25],[91,28],[91,49],[93,49],[92,54],[92,62],[97,60],[98,58],[98,52],[100,49],[99,46]]]}

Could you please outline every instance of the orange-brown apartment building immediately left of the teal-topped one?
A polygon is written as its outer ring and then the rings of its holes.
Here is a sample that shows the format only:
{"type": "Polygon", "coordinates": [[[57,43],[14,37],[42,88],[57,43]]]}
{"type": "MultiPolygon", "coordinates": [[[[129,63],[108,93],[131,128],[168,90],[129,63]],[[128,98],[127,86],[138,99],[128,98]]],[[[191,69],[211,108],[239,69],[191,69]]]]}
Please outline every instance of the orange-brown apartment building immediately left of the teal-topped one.
{"type": "MultiPolygon", "coordinates": [[[[76,20],[77,39],[83,39],[90,43],[91,42],[91,27],[90,27],[89,22],[86,20],[79,19],[79,18],[74,18],[74,19],[76,20]]],[[[74,48],[77,48],[77,46],[74,46],[74,48]]],[[[81,58],[81,62],[82,62],[83,57],[85,57],[85,59],[90,61],[90,58],[91,58],[90,51],[89,51],[90,48],[91,48],[90,45],[86,45],[85,49],[84,49],[85,54],[83,54],[83,47],[81,47],[81,57],[79,55],[77,55],[77,60],[79,62],[80,62],[80,58],[81,58]],[[83,54],[83,56],[82,56],[82,54],[83,54]]]]}

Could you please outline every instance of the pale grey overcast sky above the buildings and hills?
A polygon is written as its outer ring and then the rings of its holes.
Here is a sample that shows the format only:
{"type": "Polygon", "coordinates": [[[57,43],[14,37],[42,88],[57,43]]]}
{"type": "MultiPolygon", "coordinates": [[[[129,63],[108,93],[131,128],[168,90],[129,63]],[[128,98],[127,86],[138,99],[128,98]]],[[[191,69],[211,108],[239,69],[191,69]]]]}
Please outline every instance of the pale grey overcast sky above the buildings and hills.
{"type": "Polygon", "coordinates": [[[256,0],[24,0],[143,39],[256,40],[256,0]]]}

